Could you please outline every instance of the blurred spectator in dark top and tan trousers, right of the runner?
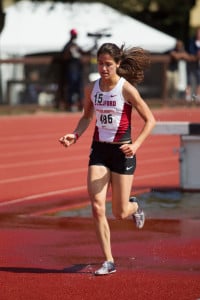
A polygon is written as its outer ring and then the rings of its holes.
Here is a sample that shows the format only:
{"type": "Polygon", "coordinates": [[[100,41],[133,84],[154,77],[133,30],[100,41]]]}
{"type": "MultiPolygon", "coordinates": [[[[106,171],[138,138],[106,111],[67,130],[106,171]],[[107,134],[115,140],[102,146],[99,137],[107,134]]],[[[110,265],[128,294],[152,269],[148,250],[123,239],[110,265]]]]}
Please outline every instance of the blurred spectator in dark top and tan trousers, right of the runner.
{"type": "Polygon", "coordinates": [[[170,63],[167,71],[167,88],[170,98],[184,98],[187,86],[187,61],[189,53],[181,40],[177,40],[173,50],[168,52],[170,63]]]}

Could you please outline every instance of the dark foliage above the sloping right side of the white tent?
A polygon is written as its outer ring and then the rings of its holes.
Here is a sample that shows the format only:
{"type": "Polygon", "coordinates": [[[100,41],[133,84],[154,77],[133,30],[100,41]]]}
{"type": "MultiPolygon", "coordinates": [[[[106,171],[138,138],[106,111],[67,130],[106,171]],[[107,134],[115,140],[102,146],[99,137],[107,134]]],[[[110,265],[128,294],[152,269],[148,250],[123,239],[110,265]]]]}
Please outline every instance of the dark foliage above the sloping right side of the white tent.
{"type": "Polygon", "coordinates": [[[195,5],[195,0],[101,0],[98,2],[109,5],[177,39],[188,41],[189,13],[195,5]]]}

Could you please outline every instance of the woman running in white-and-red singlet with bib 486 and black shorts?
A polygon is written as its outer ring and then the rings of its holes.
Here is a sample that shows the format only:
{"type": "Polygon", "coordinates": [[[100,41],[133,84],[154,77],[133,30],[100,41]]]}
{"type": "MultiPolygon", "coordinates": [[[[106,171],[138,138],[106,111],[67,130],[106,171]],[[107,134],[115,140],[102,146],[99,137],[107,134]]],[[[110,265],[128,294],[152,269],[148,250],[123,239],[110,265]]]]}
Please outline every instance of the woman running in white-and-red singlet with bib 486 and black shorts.
{"type": "Polygon", "coordinates": [[[112,211],[116,219],[132,216],[137,228],[144,226],[144,211],[138,200],[130,195],[136,152],[155,125],[150,108],[135,87],[143,80],[144,69],[148,66],[149,55],[142,48],[125,49],[124,45],[103,44],[97,52],[100,78],[85,88],[83,113],[74,131],[59,139],[64,147],[75,144],[95,114],[87,182],[95,231],[105,260],[95,275],[116,272],[106,217],[106,197],[110,186],[112,211]],[[135,140],[131,134],[133,109],[144,121],[135,140]]]}

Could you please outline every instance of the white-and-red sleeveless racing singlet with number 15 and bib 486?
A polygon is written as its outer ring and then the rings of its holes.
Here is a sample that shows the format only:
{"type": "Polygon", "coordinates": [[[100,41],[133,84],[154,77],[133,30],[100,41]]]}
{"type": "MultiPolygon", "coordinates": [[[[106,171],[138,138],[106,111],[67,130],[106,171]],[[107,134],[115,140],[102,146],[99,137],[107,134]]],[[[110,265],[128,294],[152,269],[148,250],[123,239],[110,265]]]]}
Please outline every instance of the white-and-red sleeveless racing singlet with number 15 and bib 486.
{"type": "Polygon", "coordinates": [[[123,142],[131,140],[132,105],[122,95],[125,79],[120,78],[109,92],[102,92],[98,79],[91,93],[96,112],[94,141],[123,142]]]}

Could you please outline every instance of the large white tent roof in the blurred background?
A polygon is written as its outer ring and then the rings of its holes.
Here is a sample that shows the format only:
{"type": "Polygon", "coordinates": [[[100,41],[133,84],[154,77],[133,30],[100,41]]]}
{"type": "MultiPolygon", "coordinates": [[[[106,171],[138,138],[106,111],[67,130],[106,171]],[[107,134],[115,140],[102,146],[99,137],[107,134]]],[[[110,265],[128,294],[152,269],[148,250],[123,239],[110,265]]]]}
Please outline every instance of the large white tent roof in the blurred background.
{"type": "Polygon", "coordinates": [[[1,56],[19,56],[60,51],[76,28],[78,43],[93,45],[88,32],[110,33],[101,43],[140,46],[163,53],[175,45],[175,38],[100,3],[20,1],[6,9],[5,28],[0,36],[1,56]]]}

